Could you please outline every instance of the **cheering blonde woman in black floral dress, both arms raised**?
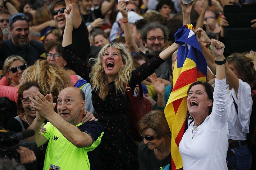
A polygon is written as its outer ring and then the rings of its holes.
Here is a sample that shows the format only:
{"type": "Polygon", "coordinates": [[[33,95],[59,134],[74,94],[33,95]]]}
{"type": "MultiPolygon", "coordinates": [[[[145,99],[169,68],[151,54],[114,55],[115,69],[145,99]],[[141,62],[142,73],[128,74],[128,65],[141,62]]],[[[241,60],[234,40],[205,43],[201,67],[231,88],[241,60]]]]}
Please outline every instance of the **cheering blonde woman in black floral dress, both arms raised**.
{"type": "Polygon", "coordinates": [[[154,73],[174,51],[178,44],[162,51],[134,70],[132,57],[124,44],[105,45],[90,66],[72,51],[72,30],[75,8],[70,4],[65,10],[66,27],[63,36],[63,58],[68,67],[92,85],[94,115],[104,128],[98,158],[98,169],[138,169],[138,146],[129,127],[130,100],[124,84],[134,91],[136,85],[154,73]]]}

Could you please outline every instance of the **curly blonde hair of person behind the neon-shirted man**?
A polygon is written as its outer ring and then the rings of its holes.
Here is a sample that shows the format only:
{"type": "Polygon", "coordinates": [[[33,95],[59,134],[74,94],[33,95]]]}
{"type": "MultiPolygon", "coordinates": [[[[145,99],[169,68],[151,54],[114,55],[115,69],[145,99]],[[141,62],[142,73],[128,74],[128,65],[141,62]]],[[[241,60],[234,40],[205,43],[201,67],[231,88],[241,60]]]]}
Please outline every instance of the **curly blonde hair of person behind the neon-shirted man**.
{"type": "Polygon", "coordinates": [[[64,68],[48,64],[46,60],[37,60],[22,73],[20,86],[28,81],[36,82],[43,95],[52,93],[53,100],[56,100],[60,91],[68,87],[69,75],[64,68]]]}

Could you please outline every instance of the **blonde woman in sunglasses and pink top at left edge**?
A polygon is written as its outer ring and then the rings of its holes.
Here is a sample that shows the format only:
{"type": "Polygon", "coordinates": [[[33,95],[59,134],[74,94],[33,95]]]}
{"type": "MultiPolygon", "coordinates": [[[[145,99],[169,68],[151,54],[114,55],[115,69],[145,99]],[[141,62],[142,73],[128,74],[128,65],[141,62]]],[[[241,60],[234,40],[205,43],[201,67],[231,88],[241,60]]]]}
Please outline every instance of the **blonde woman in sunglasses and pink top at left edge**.
{"type": "Polygon", "coordinates": [[[26,61],[18,55],[12,55],[5,59],[3,66],[4,77],[0,80],[0,97],[8,97],[17,102],[17,85],[27,68],[26,61]]]}

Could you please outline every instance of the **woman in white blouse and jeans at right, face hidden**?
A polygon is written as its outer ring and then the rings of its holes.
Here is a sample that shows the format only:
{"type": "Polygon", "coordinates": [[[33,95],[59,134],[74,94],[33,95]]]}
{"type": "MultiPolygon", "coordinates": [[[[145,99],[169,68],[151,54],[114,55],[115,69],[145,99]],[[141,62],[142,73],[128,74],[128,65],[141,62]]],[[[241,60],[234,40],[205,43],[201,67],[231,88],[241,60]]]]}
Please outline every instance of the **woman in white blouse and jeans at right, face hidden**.
{"type": "Polygon", "coordinates": [[[228,96],[228,152],[227,160],[236,170],[250,169],[252,153],[249,150],[249,133],[252,113],[252,92],[248,83],[256,78],[252,59],[234,53],[227,58],[226,75],[228,96]]]}

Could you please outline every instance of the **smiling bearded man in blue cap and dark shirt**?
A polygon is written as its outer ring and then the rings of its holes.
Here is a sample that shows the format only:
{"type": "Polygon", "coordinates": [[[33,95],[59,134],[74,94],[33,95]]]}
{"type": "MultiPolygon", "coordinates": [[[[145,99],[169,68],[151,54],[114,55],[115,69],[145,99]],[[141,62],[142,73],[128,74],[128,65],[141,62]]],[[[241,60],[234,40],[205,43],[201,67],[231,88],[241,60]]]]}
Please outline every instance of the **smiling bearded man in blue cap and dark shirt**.
{"type": "Polygon", "coordinates": [[[9,34],[12,38],[4,40],[0,50],[0,70],[3,67],[1,63],[4,63],[4,60],[11,55],[19,55],[25,59],[28,66],[33,65],[40,55],[45,52],[44,44],[28,40],[28,19],[23,13],[12,15],[9,25],[9,34]]]}

